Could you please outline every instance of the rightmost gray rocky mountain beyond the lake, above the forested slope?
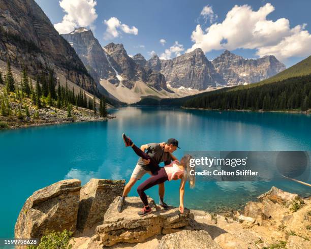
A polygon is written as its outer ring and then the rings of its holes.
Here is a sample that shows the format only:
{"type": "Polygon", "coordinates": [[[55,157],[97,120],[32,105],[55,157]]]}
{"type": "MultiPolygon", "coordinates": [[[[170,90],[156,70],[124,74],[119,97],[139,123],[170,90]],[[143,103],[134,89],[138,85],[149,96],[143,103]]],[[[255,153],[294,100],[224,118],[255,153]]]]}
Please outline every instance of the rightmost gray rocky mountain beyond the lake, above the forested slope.
{"type": "Polygon", "coordinates": [[[259,59],[245,59],[228,50],[225,50],[211,63],[215,71],[227,82],[227,85],[259,82],[285,70],[285,65],[273,55],[259,59]]]}

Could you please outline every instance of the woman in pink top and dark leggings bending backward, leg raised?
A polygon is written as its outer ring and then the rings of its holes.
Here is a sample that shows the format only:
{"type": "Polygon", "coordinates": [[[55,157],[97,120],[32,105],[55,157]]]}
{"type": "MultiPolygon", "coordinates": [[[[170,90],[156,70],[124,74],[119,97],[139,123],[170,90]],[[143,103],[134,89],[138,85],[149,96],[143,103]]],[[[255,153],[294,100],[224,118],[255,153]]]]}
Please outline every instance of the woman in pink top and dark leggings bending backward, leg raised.
{"type": "MultiPolygon", "coordinates": [[[[179,186],[179,211],[183,213],[183,195],[185,181],[188,180],[190,182],[190,188],[194,188],[195,186],[195,176],[190,175],[190,159],[192,159],[191,155],[184,155],[180,162],[178,160],[175,160],[169,165],[166,165],[165,167],[160,167],[147,153],[138,148],[125,134],[122,134],[122,138],[126,147],[131,146],[139,157],[149,161],[149,168],[156,169],[154,173],[152,173],[152,176],[149,179],[145,180],[143,183],[141,183],[137,188],[139,197],[144,203],[144,207],[141,211],[138,212],[138,215],[144,216],[152,212],[148,204],[145,190],[150,189],[152,186],[158,185],[167,180],[170,181],[174,179],[181,179],[179,186]]],[[[191,170],[194,170],[194,168],[192,168],[191,170]]]]}

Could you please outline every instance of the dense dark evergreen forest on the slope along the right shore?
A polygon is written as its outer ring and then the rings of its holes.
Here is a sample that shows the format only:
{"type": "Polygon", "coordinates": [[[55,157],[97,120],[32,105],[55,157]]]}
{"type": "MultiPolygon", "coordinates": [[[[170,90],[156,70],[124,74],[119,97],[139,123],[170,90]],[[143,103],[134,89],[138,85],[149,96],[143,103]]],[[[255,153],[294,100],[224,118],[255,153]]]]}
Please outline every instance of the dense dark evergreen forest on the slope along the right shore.
{"type": "Polygon", "coordinates": [[[188,108],[233,110],[301,110],[311,108],[311,75],[248,89],[208,92],[183,104],[188,108]]]}

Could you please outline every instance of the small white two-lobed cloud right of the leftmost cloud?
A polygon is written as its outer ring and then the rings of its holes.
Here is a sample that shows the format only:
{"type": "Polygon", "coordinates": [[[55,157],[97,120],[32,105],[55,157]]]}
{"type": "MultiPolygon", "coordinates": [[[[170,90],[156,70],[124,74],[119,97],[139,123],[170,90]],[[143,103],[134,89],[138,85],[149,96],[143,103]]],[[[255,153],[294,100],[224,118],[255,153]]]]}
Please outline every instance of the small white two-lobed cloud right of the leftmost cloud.
{"type": "Polygon", "coordinates": [[[132,34],[135,36],[138,35],[138,29],[135,26],[130,28],[127,24],[121,23],[116,17],[111,17],[109,20],[104,20],[104,23],[107,25],[107,29],[104,34],[105,40],[119,37],[121,31],[126,34],[132,34]]]}

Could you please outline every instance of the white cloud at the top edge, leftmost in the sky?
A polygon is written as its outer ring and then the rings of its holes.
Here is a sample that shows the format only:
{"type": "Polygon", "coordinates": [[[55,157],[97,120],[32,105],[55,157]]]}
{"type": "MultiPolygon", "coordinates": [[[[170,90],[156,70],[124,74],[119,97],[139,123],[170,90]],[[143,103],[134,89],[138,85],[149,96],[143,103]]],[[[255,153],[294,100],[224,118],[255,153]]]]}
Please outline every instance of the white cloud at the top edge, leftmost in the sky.
{"type": "Polygon", "coordinates": [[[55,29],[59,34],[67,34],[76,27],[92,26],[92,23],[97,18],[96,4],[96,0],[59,1],[59,6],[66,14],[61,22],[54,24],[55,29]]]}

